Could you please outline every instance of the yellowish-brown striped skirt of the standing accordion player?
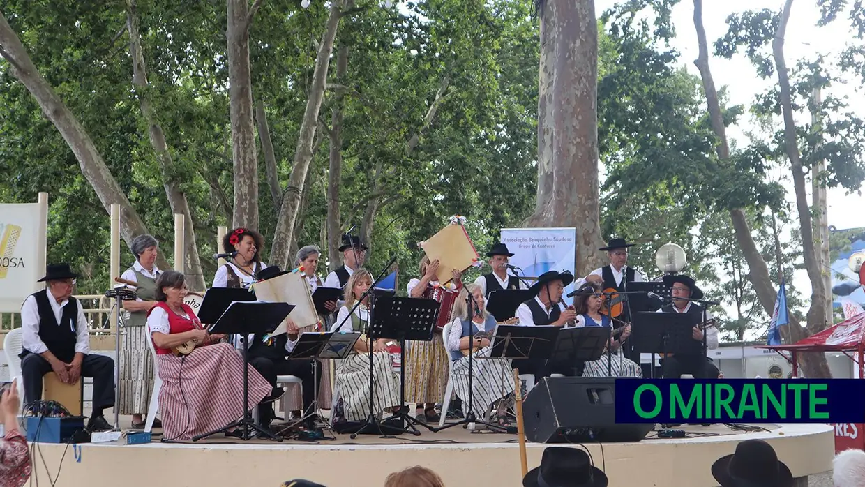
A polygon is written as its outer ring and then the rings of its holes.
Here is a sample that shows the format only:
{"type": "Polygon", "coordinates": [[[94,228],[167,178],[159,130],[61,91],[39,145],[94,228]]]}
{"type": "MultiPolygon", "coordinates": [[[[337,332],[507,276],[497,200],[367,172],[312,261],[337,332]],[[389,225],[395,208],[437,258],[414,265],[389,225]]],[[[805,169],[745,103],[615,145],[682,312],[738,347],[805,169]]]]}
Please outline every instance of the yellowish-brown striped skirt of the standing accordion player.
{"type": "Polygon", "coordinates": [[[406,401],[418,405],[440,402],[445,397],[450,361],[440,333],[430,342],[406,342],[406,401]]]}

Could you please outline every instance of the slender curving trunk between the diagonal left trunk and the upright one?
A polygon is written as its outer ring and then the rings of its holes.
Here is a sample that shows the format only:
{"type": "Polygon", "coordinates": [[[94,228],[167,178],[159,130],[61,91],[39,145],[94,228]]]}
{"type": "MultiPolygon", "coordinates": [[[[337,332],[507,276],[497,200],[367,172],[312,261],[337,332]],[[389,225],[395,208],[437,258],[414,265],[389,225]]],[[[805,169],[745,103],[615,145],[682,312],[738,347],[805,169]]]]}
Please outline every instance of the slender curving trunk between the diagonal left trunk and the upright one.
{"type": "Polygon", "coordinates": [[[165,142],[165,133],[157,121],[157,115],[150,103],[147,67],[144,63],[144,51],[141,48],[141,36],[138,32],[138,12],[135,0],[126,0],[126,29],[129,30],[129,52],[132,58],[132,84],[135,85],[141,113],[147,121],[148,133],[153,151],[156,152],[159,169],[162,171],[165,195],[171,206],[171,212],[183,215],[183,252],[186,254],[186,275],[190,289],[204,289],[202,263],[198,257],[198,247],[195,245],[195,226],[186,195],[177,183],[174,161],[165,142]]]}

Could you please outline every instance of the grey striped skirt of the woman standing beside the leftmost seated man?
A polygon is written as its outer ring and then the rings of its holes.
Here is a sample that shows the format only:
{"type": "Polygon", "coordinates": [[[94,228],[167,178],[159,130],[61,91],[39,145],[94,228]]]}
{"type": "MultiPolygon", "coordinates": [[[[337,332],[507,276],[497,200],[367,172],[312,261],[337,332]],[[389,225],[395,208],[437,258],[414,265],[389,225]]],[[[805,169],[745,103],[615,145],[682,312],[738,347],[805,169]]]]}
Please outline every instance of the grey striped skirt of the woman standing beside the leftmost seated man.
{"type": "Polygon", "coordinates": [[[150,406],[153,356],[148,339],[146,326],[127,326],[120,332],[120,414],[144,414],[150,406]]]}

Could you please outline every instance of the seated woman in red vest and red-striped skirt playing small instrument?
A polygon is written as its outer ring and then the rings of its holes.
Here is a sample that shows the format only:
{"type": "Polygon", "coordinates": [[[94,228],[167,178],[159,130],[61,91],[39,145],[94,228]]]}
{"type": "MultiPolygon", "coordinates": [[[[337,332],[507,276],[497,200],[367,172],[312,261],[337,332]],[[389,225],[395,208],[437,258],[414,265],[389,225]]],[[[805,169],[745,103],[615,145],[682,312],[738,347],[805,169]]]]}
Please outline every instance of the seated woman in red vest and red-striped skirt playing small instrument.
{"type": "MultiPolygon", "coordinates": [[[[247,368],[249,396],[243,404],[243,361],[223,336],[209,335],[187,304],[183,274],[163,272],[157,279],[157,304],[147,316],[147,327],[157,350],[157,370],[163,438],[190,439],[226,426],[271,392],[271,385],[252,367],[247,368]],[[171,349],[194,340],[201,345],[188,356],[171,349]]],[[[232,431],[226,436],[240,437],[232,431]]]]}

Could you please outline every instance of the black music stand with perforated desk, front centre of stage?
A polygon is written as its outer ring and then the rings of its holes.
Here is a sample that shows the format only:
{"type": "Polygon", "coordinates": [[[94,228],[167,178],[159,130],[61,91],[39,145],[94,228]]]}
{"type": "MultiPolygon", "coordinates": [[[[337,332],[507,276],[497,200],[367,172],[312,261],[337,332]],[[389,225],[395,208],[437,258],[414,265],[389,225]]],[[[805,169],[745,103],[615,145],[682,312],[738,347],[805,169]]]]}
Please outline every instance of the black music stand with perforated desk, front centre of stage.
{"type": "MultiPolygon", "coordinates": [[[[386,338],[400,341],[400,412],[384,420],[403,420],[407,425],[405,433],[411,430],[414,436],[420,431],[414,425],[424,426],[430,431],[435,428],[424,421],[410,416],[404,407],[406,404],[406,340],[413,342],[430,342],[435,333],[436,321],[439,318],[439,302],[435,299],[397,298],[383,296],[375,300],[375,320],[369,329],[369,335],[375,338],[386,338]]],[[[370,397],[372,397],[370,395],[370,397]]]]}

